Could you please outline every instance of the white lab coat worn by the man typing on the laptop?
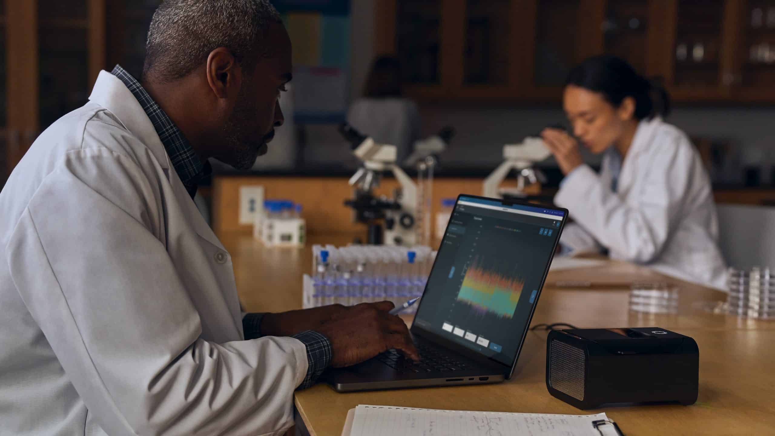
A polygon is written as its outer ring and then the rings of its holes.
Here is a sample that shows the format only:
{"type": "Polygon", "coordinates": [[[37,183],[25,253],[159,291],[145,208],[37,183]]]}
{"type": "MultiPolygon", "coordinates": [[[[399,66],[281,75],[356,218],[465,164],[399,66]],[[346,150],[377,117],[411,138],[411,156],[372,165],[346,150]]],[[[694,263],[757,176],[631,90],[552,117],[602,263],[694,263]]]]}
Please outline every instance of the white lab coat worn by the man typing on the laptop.
{"type": "Polygon", "coordinates": [[[105,71],[0,194],[0,434],[282,434],[307,372],[243,341],[232,261],[105,71]]]}

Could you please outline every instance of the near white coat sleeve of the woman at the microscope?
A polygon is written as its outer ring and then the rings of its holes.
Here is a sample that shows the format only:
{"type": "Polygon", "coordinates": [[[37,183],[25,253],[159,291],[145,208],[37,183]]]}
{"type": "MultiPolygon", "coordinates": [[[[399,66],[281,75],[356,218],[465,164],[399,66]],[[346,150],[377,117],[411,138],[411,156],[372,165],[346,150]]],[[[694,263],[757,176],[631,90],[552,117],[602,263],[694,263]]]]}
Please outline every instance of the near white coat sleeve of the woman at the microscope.
{"type": "MultiPolygon", "coordinates": [[[[666,138],[661,138],[666,139],[666,138]]],[[[624,202],[587,165],[578,168],[560,188],[557,205],[570,210],[570,216],[604,247],[628,261],[647,263],[662,250],[676,214],[688,192],[692,175],[691,147],[678,147],[671,140],[657,141],[659,147],[644,161],[648,171],[638,189],[636,202],[624,202]]]]}

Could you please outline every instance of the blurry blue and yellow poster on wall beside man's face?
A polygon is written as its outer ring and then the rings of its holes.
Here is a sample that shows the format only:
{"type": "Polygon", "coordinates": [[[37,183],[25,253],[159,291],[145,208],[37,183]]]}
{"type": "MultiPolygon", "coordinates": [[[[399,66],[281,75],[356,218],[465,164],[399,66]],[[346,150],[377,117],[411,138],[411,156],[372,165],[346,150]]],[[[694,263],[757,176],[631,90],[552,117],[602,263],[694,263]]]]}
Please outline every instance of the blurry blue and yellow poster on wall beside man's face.
{"type": "Polygon", "coordinates": [[[294,122],[343,121],[350,84],[350,0],[279,0],[293,44],[294,122]]]}

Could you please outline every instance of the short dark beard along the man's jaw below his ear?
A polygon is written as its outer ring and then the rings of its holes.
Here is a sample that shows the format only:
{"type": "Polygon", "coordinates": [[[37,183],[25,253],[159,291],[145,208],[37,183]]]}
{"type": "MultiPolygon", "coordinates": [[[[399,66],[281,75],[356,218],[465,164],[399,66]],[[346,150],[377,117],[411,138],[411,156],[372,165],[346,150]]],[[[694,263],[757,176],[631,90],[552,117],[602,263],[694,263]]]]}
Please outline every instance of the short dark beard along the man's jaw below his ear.
{"type": "Polygon", "coordinates": [[[250,129],[256,116],[256,105],[251,104],[243,91],[240,90],[234,112],[229,116],[223,127],[223,155],[228,161],[224,163],[238,170],[249,170],[256,163],[256,158],[267,153],[267,144],[250,140],[255,133],[250,129]]]}

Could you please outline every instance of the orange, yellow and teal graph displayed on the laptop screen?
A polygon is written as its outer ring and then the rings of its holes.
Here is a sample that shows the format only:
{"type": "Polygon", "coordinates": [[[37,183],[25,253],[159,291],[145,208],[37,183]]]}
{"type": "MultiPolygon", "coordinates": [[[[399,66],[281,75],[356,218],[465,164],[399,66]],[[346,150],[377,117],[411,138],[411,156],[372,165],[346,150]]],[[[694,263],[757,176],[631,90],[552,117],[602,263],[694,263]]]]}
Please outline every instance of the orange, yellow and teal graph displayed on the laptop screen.
{"type": "Polygon", "coordinates": [[[520,279],[482,268],[477,258],[463,277],[457,300],[482,313],[511,319],[524,285],[525,282],[520,279]]]}

